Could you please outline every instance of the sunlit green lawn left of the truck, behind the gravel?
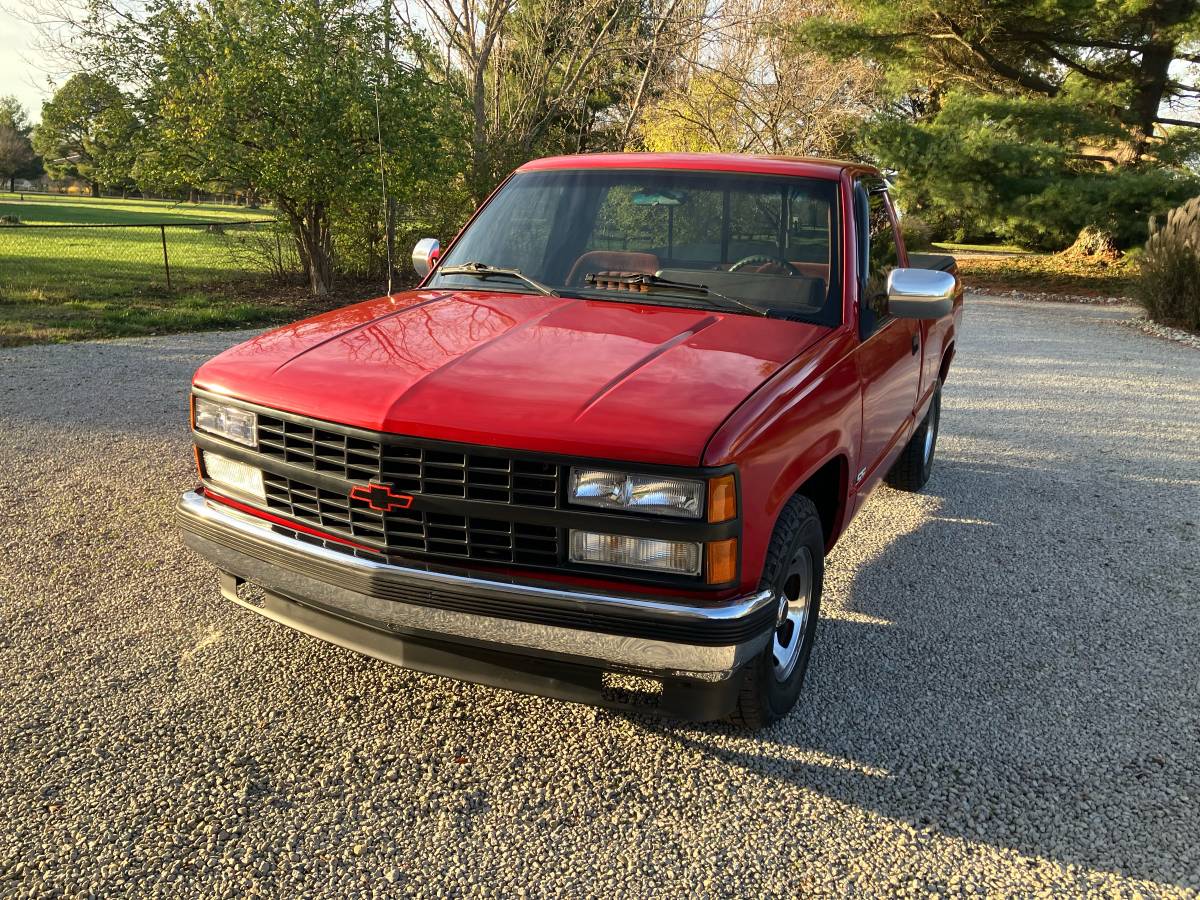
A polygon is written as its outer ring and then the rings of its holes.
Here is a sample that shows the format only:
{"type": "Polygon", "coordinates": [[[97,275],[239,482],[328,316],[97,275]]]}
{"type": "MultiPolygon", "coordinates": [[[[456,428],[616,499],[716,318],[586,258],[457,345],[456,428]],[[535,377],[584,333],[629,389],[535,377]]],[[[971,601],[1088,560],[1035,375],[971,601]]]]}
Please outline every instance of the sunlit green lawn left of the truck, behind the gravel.
{"type": "MultiPolygon", "coordinates": [[[[269,218],[218,204],[0,193],[23,224],[233,222],[269,218]]],[[[0,346],[250,328],[288,322],[347,298],[313,302],[268,277],[262,228],[167,228],[172,288],[157,228],[0,227],[0,346]]],[[[286,246],[286,244],[283,245],[286,246]]]]}

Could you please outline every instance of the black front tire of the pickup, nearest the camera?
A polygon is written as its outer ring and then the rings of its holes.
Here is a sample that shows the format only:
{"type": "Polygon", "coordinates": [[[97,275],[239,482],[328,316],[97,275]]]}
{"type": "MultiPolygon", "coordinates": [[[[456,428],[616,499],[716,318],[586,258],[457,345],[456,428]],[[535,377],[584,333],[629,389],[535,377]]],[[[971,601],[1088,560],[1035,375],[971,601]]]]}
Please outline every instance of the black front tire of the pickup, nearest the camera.
{"type": "Polygon", "coordinates": [[[803,589],[799,569],[805,560],[809,570],[803,626],[787,619],[775,629],[766,649],[746,664],[738,704],[730,715],[730,721],[734,725],[762,728],[787,715],[799,700],[804,673],[812,654],[812,640],[821,611],[821,587],[824,582],[824,532],[812,500],[797,496],[779,514],[760,586],[774,590],[781,604],[785,596],[793,601],[788,610],[797,607],[797,598],[792,594],[803,589]],[[797,630],[788,630],[787,626],[797,630]],[[788,638],[790,665],[781,671],[776,660],[776,640],[785,635],[788,638]],[[792,638],[797,640],[794,648],[792,638]]]}

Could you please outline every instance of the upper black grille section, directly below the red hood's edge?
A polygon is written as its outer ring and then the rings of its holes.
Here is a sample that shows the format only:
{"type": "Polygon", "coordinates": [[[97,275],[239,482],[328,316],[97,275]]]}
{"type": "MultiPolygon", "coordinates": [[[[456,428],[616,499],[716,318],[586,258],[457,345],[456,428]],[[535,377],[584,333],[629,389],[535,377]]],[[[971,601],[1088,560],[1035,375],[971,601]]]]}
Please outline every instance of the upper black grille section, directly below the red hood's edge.
{"type": "Polygon", "coordinates": [[[464,500],[558,505],[558,466],[550,462],[382,443],[263,414],[258,445],[266,456],[348,481],[380,481],[397,491],[464,500]]]}

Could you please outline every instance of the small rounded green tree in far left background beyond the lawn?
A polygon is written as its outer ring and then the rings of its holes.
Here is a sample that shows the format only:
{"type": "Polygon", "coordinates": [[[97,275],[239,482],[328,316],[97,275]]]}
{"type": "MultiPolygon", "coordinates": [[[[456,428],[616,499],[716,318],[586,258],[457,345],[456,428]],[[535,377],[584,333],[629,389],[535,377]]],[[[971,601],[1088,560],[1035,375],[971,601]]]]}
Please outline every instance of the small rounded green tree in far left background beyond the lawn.
{"type": "Polygon", "coordinates": [[[94,197],[101,186],[127,186],[138,121],[121,90],[90,73],[72,76],[42,104],[34,146],[55,178],[79,178],[94,197]]]}

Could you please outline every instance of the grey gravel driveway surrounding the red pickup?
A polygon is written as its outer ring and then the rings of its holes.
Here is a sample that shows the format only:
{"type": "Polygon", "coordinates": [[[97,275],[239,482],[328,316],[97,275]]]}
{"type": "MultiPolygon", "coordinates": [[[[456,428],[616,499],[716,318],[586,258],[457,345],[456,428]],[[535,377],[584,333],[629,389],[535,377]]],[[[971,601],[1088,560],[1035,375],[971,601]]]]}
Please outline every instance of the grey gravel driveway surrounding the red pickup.
{"type": "Polygon", "coordinates": [[[758,736],[220,600],[170,510],[241,335],[0,350],[0,895],[1196,895],[1200,353],[1128,314],[968,301],[934,478],[758,736]]]}

